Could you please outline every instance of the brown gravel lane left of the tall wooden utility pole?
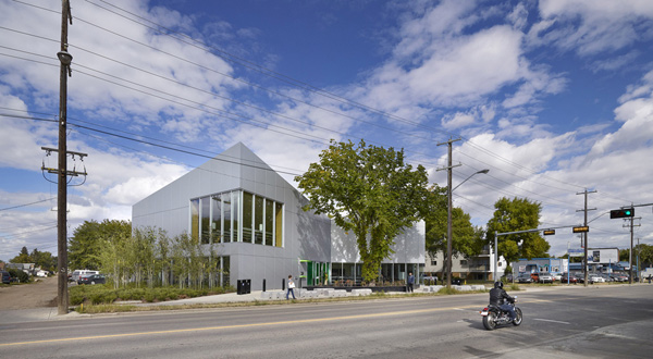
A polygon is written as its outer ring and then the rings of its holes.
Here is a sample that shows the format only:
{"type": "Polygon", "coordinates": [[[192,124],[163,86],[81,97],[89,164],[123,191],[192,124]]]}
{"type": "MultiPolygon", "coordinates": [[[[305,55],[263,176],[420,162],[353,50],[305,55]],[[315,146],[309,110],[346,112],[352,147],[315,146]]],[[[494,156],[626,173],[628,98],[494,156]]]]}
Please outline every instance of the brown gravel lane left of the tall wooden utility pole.
{"type": "Polygon", "coordinates": [[[57,277],[38,278],[29,284],[0,286],[0,309],[57,307],[57,277]]]}

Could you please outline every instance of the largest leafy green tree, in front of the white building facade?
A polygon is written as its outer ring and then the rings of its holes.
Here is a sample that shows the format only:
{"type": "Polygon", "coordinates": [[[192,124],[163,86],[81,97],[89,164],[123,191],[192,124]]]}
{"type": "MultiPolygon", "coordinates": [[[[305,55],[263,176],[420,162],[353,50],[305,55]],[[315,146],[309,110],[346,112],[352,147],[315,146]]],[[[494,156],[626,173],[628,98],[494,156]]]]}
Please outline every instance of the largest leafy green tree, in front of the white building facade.
{"type": "Polygon", "coordinates": [[[429,196],[423,166],[405,163],[403,150],[367,146],[364,140],[332,140],[320,162],[295,181],[309,200],[305,210],[328,214],[354,233],[366,281],[378,276],[394,237],[421,218],[429,196]]]}

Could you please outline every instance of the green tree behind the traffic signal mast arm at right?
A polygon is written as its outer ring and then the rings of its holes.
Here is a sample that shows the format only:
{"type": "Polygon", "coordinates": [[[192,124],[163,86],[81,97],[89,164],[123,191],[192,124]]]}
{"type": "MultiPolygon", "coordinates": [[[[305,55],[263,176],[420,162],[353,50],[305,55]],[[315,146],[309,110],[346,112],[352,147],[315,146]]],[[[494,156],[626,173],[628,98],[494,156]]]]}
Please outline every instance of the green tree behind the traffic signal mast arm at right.
{"type": "MultiPolygon", "coordinates": [[[[535,230],[540,225],[542,206],[525,198],[501,198],[494,203],[494,216],[488,222],[488,238],[494,242],[496,233],[535,230]]],[[[508,263],[519,258],[549,257],[551,246],[539,232],[498,236],[498,256],[508,263]],[[521,243],[521,245],[519,245],[521,243]]]]}

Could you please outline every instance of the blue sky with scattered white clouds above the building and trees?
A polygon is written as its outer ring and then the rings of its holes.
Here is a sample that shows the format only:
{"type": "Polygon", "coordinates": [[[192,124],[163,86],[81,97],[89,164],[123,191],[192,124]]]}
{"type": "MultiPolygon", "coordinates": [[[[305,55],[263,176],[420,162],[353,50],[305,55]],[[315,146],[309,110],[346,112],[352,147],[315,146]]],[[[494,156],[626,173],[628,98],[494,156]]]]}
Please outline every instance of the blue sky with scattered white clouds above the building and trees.
{"type": "MultiPolygon", "coordinates": [[[[653,1],[71,0],[67,233],[243,143],[291,184],[331,139],[404,149],[485,226],[542,207],[550,253],[653,245],[653,1]],[[459,140],[457,140],[459,139],[459,140]],[[481,170],[486,174],[477,174],[481,170]],[[471,176],[471,177],[469,177],[471,176]],[[469,178],[469,180],[468,180],[469,178]],[[468,181],[466,181],[468,180],[468,181]],[[649,205],[649,206],[646,206],[649,205]]],[[[0,260],[57,253],[61,2],[0,0],[0,260]]]]}

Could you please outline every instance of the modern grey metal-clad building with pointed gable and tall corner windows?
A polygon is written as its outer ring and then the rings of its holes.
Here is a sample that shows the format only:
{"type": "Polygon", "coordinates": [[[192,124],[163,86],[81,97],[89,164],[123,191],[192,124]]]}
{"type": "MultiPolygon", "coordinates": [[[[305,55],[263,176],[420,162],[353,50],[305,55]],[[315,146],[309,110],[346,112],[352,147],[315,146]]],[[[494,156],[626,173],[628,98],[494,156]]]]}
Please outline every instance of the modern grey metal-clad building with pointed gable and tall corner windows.
{"type": "MultiPolygon", "coordinates": [[[[288,275],[304,285],[360,283],[352,234],[324,215],[304,211],[307,199],[243,144],[188,172],[133,206],[132,225],[188,234],[217,248],[221,284],[250,280],[251,289],[281,288],[288,275]]],[[[380,275],[402,281],[424,263],[424,224],[395,238],[380,275]],[[420,265],[421,264],[421,265],[420,265]]]]}

